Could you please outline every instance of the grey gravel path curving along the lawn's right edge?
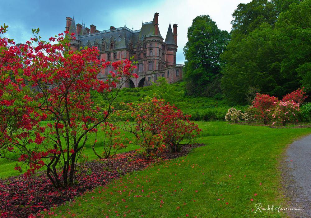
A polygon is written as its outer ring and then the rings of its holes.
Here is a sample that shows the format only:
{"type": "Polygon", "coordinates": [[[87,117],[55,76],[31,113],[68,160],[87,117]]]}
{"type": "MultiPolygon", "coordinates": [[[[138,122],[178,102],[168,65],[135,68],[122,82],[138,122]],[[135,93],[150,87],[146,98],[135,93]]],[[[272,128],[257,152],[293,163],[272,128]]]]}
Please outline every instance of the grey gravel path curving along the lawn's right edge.
{"type": "Polygon", "coordinates": [[[285,196],[290,198],[286,211],[290,217],[311,218],[311,135],[289,145],[283,162],[282,176],[285,196]]]}

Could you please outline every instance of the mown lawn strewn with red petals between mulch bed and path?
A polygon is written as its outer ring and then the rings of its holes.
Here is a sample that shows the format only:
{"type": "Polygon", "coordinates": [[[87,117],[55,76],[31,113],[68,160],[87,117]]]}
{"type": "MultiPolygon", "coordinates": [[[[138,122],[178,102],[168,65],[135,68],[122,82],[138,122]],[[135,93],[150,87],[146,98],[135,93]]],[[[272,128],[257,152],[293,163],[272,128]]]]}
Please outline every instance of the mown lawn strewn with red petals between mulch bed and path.
{"type": "Polygon", "coordinates": [[[278,163],[286,146],[311,129],[197,123],[206,146],[96,188],[51,217],[284,217],[255,213],[255,205],[289,206],[278,163]]]}

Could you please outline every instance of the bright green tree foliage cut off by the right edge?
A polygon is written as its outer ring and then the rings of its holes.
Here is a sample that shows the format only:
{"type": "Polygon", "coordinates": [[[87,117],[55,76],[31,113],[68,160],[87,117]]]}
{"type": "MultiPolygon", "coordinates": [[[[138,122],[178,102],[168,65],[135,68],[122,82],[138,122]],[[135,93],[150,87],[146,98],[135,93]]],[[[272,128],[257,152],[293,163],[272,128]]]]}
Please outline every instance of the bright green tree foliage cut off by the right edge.
{"type": "Polygon", "coordinates": [[[285,78],[298,74],[300,83],[311,89],[311,0],[293,3],[280,14],[276,23],[275,41],[286,56],[281,64],[285,78]]]}

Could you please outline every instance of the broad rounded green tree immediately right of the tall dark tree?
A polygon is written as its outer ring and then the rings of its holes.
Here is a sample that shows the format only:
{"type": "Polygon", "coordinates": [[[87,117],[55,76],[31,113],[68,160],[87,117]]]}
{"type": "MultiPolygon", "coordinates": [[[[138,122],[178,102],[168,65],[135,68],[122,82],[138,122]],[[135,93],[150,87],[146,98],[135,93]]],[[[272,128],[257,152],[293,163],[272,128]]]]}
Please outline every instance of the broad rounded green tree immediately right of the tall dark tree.
{"type": "Polygon", "coordinates": [[[230,52],[222,55],[227,62],[222,70],[222,88],[230,102],[246,103],[253,92],[281,97],[291,90],[280,85],[292,81],[285,81],[281,75],[284,51],[275,47],[273,33],[269,24],[262,24],[241,41],[230,44],[230,52]]]}

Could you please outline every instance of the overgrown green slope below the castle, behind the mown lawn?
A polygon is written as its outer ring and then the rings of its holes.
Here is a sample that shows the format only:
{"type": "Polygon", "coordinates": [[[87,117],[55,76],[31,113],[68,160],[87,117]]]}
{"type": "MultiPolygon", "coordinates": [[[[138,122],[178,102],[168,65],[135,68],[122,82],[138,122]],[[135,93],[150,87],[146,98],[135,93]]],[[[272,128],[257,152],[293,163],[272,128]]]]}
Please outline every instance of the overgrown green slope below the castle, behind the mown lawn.
{"type": "MultiPolygon", "coordinates": [[[[158,96],[165,99],[171,104],[174,104],[184,113],[191,114],[192,120],[213,121],[225,120],[225,114],[231,108],[225,100],[213,97],[194,97],[187,96],[184,93],[185,82],[176,82],[168,84],[161,78],[159,85],[136,88],[123,88],[119,95],[119,102],[135,102],[144,96],[158,96]]],[[[100,95],[96,92],[91,92],[91,97],[94,100],[100,100],[100,95]]],[[[234,105],[238,110],[244,111],[247,106],[234,105]]]]}

